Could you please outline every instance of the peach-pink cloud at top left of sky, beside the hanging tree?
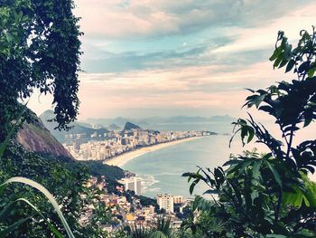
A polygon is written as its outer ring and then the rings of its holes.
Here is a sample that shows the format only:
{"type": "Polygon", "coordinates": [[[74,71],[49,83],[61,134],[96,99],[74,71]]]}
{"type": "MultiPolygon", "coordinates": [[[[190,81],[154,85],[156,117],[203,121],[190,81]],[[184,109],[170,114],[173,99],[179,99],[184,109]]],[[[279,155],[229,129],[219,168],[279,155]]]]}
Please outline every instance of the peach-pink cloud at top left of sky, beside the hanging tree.
{"type": "Polygon", "coordinates": [[[153,6],[132,2],[118,7],[121,1],[76,1],[75,14],[84,20],[81,30],[87,35],[104,35],[110,38],[149,35],[152,33],[178,33],[179,19],[153,6]]]}

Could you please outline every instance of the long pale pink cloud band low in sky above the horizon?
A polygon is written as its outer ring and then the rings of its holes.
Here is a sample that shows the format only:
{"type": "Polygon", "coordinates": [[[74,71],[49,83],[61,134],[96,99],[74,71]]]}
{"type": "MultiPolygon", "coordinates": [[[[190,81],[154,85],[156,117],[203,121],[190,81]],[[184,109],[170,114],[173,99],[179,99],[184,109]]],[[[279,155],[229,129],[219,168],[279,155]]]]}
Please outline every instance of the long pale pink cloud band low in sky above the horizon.
{"type": "Polygon", "coordinates": [[[273,71],[269,62],[236,71],[225,72],[224,67],[81,74],[81,116],[84,119],[134,113],[137,117],[136,111],[140,110],[152,116],[238,115],[248,94],[244,88],[265,88],[274,81],[285,80],[283,71],[273,71]]]}

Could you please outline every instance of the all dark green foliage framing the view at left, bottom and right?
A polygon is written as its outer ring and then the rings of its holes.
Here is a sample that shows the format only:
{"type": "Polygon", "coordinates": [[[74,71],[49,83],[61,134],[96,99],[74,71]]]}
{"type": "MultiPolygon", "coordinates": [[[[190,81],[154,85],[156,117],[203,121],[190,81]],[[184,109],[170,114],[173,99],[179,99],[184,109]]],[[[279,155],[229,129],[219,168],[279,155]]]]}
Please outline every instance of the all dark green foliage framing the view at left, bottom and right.
{"type": "MultiPolygon", "coordinates": [[[[73,235],[107,237],[100,224],[110,223],[111,214],[94,199],[98,189],[83,185],[89,174],[107,173],[111,181],[120,178],[121,169],[100,167],[96,162],[82,167],[67,159],[27,152],[14,140],[10,142],[19,125],[31,119],[19,101],[30,97],[34,88],[53,94],[57,128],[68,129],[76,119],[80,33],[72,8],[71,0],[0,0],[0,181],[23,176],[32,179],[25,181],[42,184],[54,194],[73,235]],[[95,215],[81,226],[79,217],[86,205],[93,205],[95,215]]],[[[316,33],[312,29],[312,33],[302,31],[300,35],[293,49],[279,32],[270,58],[274,68],[285,67],[296,78],[265,90],[250,90],[252,95],[244,105],[274,117],[282,139],[274,138],[250,114],[248,119],[238,119],[235,135],[240,133],[244,145],[256,139],[268,153],[246,151],[231,157],[225,169],[200,168],[184,174],[192,181],[191,193],[203,181],[209,186],[205,194],[213,199],[197,196],[180,231],[172,231],[170,220],[163,218],[151,229],[133,227],[128,234],[117,233],[118,237],[316,236],[316,185],[308,178],[315,171],[316,140],[293,144],[296,133],[316,119],[316,33]]],[[[115,190],[116,184],[111,185],[108,187],[115,190]]],[[[0,185],[0,236],[69,234],[56,213],[59,209],[46,197],[32,186],[0,185]]]]}

